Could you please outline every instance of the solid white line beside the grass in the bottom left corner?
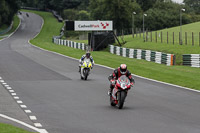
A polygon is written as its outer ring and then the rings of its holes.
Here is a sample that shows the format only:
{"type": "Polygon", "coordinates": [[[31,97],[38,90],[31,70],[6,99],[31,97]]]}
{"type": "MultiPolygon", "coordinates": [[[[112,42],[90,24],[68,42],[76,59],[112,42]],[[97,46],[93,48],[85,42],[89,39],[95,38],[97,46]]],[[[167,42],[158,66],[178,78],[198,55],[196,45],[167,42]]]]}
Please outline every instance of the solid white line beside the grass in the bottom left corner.
{"type": "Polygon", "coordinates": [[[7,119],[7,120],[11,120],[11,121],[16,122],[16,123],[18,123],[18,124],[21,124],[21,125],[23,125],[23,126],[25,126],[25,127],[28,127],[28,128],[30,128],[30,129],[32,129],[32,130],[35,130],[36,132],[39,132],[39,133],[48,133],[45,129],[36,128],[36,127],[31,126],[31,125],[29,125],[29,124],[27,124],[27,123],[25,123],[25,122],[22,122],[22,121],[19,121],[19,120],[17,120],[17,119],[8,117],[8,116],[6,116],[6,115],[0,114],[0,117],[2,117],[2,118],[4,118],[4,119],[7,119]]]}

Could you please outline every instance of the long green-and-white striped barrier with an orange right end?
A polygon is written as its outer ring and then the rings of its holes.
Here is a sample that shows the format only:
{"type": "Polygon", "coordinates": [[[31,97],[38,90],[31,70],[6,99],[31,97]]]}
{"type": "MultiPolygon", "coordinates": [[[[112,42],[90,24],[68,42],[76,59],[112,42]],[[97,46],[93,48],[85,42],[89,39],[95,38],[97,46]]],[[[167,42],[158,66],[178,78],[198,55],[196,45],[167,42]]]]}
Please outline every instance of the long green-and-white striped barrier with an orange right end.
{"type": "Polygon", "coordinates": [[[123,57],[144,59],[159,64],[166,64],[167,66],[175,65],[175,55],[173,54],[166,54],[151,50],[122,48],[113,45],[110,45],[110,53],[121,55],[123,57]]]}

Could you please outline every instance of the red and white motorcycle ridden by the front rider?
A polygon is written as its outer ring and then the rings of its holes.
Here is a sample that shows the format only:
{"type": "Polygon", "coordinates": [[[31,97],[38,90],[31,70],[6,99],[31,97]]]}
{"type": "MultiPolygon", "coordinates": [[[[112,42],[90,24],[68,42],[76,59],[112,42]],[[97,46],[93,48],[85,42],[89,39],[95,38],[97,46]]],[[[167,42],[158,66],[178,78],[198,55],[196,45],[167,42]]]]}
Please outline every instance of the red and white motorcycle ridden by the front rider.
{"type": "Polygon", "coordinates": [[[117,105],[119,109],[122,109],[126,96],[128,94],[128,90],[131,87],[132,85],[130,83],[130,80],[125,75],[119,77],[110,95],[110,105],[117,105]]]}

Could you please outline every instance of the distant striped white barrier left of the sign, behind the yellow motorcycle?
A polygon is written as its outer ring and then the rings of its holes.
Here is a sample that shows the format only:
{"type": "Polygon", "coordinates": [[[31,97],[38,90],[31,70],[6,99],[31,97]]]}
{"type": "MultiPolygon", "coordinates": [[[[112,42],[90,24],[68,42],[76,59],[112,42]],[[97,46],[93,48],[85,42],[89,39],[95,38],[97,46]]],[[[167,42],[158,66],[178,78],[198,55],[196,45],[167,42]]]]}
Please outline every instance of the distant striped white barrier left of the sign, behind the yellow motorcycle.
{"type": "Polygon", "coordinates": [[[58,45],[64,45],[67,47],[72,47],[72,48],[76,48],[76,49],[81,49],[81,50],[87,50],[87,45],[84,43],[77,43],[77,42],[73,42],[70,40],[63,40],[63,39],[59,39],[59,38],[53,38],[53,43],[58,44],[58,45]]]}

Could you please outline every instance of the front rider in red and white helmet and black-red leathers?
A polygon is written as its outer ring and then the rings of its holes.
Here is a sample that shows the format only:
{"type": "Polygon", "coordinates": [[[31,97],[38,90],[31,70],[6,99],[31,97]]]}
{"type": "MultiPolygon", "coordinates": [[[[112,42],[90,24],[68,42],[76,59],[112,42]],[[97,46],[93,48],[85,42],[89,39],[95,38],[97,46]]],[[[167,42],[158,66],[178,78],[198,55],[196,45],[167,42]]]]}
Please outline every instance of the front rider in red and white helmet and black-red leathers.
{"type": "Polygon", "coordinates": [[[108,91],[108,95],[111,95],[113,88],[115,87],[116,80],[121,77],[122,75],[126,75],[130,80],[131,86],[134,85],[135,80],[132,77],[131,73],[127,70],[126,64],[121,64],[120,67],[114,70],[114,72],[108,77],[110,81],[110,89],[108,91]]]}

